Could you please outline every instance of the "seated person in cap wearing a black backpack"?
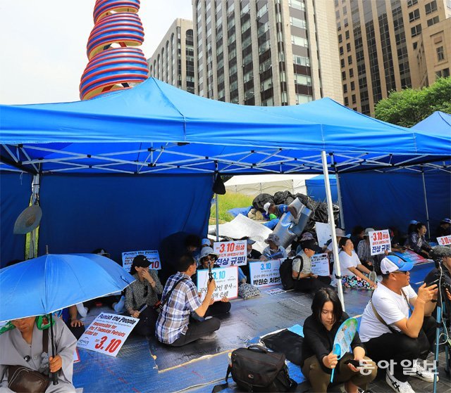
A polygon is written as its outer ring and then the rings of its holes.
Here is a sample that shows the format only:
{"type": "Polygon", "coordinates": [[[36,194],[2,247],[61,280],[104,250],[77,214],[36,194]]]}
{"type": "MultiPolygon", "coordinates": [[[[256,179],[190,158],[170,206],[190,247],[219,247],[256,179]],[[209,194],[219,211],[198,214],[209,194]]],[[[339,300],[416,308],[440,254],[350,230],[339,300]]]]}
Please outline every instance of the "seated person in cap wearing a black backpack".
{"type": "Polygon", "coordinates": [[[301,243],[302,251],[293,259],[292,278],[295,280],[295,290],[302,292],[316,291],[328,287],[329,276],[316,276],[311,273],[311,257],[315,252],[321,252],[321,248],[314,239],[304,240],[301,243]],[[302,265],[302,269],[301,269],[302,265]]]}

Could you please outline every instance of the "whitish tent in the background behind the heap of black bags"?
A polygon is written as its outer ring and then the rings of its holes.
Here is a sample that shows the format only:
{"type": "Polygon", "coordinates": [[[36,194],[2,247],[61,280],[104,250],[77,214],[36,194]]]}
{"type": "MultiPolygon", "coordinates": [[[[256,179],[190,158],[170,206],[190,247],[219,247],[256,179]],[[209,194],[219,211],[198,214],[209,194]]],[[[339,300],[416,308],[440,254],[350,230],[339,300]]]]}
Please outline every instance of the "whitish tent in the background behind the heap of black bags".
{"type": "Polygon", "coordinates": [[[261,193],[274,195],[277,191],[307,195],[305,181],[314,174],[252,174],[233,176],[226,181],[226,191],[257,196],[261,193]]]}

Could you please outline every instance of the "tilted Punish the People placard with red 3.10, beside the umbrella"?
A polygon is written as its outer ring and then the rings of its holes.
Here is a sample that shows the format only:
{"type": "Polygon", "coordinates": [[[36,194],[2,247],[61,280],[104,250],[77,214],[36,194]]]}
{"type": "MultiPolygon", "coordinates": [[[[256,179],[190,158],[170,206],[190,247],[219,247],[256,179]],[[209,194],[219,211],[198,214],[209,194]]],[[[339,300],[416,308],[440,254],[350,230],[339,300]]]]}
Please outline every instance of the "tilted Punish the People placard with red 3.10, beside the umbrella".
{"type": "Polygon", "coordinates": [[[138,321],[132,316],[101,313],[80,337],[77,347],[116,357],[138,321]]]}

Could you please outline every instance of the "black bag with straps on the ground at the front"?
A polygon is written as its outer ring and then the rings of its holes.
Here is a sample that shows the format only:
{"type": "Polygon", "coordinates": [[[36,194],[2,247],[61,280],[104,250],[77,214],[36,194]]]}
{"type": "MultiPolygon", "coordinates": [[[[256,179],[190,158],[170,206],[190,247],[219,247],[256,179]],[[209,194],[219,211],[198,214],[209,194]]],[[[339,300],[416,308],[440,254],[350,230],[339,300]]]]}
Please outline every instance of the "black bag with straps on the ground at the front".
{"type": "Polygon", "coordinates": [[[228,387],[230,374],[238,387],[247,392],[289,392],[297,386],[288,373],[285,355],[269,352],[261,345],[235,349],[230,362],[226,383],[216,385],[212,393],[228,387]]]}

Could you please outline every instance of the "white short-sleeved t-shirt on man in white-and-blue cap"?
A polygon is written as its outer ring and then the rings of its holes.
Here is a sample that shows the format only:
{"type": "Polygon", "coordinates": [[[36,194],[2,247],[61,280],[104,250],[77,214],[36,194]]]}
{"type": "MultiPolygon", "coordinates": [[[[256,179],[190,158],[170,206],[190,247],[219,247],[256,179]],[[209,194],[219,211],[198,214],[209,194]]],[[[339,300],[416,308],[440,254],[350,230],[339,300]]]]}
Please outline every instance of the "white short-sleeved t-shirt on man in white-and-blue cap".
{"type": "MultiPolygon", "coordinates": [[[[402,290],[407,299],[416,297],[416,293],[410,285],[402,288],[402,290]]],[[[402,294],[398,295],[382,283],[379,283],[378,288],[373,292],[371,302],[373,302],[374,308],[385,323],[393,329],[401,331],[394,323],[404,318],[409,318],[409,304],[407,304],[402,294]]],[[[374,314],[371,302],[366,304],[362,322],[360,323],[359,335],[362,342],[367,342],[371,338],[379,337],[385,333],[391,333],[391,330],[381,323],[374,314]]]]}

